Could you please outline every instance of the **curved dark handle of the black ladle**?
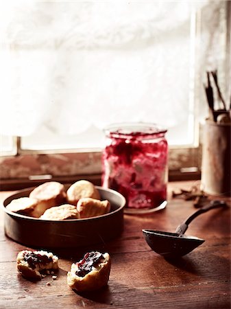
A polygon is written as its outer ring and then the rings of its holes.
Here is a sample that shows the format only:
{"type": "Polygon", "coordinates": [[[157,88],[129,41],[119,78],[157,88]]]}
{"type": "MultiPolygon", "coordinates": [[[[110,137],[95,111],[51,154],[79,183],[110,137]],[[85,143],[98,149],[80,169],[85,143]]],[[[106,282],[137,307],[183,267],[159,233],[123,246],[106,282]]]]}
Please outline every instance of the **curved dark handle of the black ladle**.
{"type": "Polygon", "coordinates": [[[201,209],[197,210],[194,214],[192,214],[189,218],[187,218],[181,225],[178,226],[178,228],[175,230],[175,233],[184,234],[185,231],[189,227],[189,223],[193,221],[197,216],[200,214],[204,214],[204,212],[226,206],[226,203],[224,201],[211,201],[208,205],[202,207],[201,209]]]}

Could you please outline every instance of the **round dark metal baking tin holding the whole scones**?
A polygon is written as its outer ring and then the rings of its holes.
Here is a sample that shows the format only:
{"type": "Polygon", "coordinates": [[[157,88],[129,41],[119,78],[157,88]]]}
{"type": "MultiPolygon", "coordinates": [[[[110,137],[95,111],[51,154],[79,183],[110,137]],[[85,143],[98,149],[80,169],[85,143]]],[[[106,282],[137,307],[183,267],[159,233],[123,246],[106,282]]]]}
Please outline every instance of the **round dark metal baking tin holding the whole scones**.
{"type": "MultiPolygon", "coordinates": [[[[14,198],[29,196],[33,188],[20,190],[3,202],[5,234],[28,247],[73,248],[104,244],[123,231],[125,198],[114,190],[95,186],[101,200],[110,201],[108,214],[93,218],[71,220],[42,220],[15,214],[5,208],[14,198]]],[[[67,189],[67,187],[66,187],[67,189]]]]}

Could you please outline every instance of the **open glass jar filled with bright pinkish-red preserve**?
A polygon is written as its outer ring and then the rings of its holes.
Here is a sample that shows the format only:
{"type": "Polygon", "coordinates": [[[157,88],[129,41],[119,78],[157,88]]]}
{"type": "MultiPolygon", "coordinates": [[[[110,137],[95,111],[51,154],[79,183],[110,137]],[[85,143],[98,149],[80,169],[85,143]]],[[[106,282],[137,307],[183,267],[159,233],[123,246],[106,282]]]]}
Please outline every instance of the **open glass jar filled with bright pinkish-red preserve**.
{"type": "Polygon", "coordinates": [[[155,124],[114,124],[105,130],[102,185],[126,198],[125,212],[144,213],[167,204],[167,130],[155,124]]]}

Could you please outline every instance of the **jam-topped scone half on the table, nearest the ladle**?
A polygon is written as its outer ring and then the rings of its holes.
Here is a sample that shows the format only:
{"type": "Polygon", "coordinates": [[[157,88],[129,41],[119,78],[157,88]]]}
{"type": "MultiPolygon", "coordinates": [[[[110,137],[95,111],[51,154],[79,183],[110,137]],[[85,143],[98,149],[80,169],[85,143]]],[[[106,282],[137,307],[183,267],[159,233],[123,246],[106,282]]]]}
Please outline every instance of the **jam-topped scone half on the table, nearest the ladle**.
{"type": "Polygon", "coordinates": [[[111,260],[108,253],[92,251],[71,265],[67,273],[67,284],[78,292],[98,290],[108,284],[111,260]]]}

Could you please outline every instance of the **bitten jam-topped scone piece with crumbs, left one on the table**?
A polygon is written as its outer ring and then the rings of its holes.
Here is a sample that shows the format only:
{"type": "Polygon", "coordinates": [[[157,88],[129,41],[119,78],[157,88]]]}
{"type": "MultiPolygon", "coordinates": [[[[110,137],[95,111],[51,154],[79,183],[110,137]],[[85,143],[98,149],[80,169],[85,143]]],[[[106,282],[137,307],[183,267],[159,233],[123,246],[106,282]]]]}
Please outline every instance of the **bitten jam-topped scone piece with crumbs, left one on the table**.
{"type": "Polygon", "coordinates": [[[58,257],[47,251],[20,251],[17,255],[17,268],[23,277],[40,280],[42,272],[58,269],[58,257]]]}

